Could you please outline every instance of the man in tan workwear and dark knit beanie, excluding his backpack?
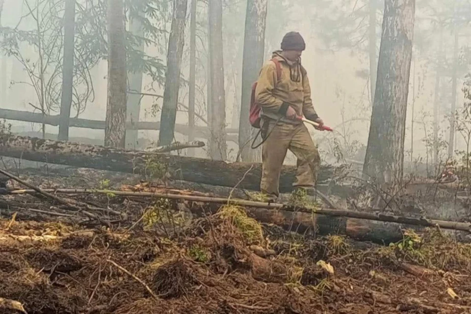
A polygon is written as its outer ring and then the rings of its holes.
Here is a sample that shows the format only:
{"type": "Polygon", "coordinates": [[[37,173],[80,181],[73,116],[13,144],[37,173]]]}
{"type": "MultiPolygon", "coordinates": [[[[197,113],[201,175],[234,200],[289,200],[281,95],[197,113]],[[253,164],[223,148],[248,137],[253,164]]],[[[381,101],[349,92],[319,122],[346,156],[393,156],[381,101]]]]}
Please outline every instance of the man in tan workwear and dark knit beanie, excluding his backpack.
{"type": "Polygon", "coordinates": [[[323,126],[314,110],[311,86],[301,65],[306,44],[298,32],[288,32],[281,50],[263,65],[255,89],[255,102],[261,106],[262,193],[274,202],[279,196],[280,172],[288,149],[297,157],[295,189],[314,188],[319,153],[308,129],[301,121],[304,115],[323,126]]]}

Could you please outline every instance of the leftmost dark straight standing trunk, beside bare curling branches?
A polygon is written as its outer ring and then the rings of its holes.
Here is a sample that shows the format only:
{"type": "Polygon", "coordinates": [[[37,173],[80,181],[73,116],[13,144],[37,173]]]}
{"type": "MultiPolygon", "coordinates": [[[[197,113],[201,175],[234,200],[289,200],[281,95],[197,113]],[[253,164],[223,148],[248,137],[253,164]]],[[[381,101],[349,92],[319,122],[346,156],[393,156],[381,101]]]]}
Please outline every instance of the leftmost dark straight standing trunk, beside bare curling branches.
{"type": "Polygon", "coordinates": [[[69,140],[69,118],[74,84],[75,1],[65,1],[64,59],[62,60],[62,95],[60,101],[59,141],[69,140]]]}

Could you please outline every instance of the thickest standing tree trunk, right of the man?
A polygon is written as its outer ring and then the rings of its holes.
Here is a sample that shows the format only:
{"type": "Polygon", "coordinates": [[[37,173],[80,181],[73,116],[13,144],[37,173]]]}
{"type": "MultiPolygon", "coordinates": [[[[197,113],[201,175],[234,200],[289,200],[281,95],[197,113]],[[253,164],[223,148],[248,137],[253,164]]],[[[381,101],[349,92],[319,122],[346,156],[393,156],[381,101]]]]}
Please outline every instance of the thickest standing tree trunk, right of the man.
{"type": "Polygon", "coordinates": [[[364,174],[378,183],[402,180],[415,0],[386,0],[364,174]]]}

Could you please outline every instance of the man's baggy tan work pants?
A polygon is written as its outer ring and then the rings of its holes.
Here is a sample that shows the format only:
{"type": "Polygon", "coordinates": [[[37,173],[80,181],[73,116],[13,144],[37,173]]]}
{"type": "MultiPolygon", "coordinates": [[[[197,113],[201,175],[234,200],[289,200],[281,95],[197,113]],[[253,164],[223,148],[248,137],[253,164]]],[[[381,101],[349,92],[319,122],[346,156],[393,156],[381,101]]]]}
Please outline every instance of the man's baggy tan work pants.
{"type": "Polygon", "coordinates": [[[288,149],[297,157],[293,186],[314,186],[320,157],[311,134],[303,123],[276,123],[276,120],[263,118],[262,138],[266,138],[262,146],[262,193],[270,198],[278,197],[281,168],[288,149]]]}

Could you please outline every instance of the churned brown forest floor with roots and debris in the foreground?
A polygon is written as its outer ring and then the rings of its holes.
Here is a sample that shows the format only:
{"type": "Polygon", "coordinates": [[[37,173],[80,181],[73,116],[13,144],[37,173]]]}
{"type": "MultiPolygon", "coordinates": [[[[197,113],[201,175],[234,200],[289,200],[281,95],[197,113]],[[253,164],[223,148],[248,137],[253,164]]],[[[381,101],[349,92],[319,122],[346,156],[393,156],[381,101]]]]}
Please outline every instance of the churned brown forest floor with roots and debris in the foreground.
{"type": "MultiPolygon", "coordinates": [[[[97,173],[22,178],[42,188],[156,189],[97,173]]],[[[471,313],[471,245],[439,230],[381,246],[286,232],[234,206],[195,217],[167,200],[67,199],[111,209],[94,211],[111,228],[37,195],[0,197],[0,313],[21,313],[6,299],[28,314],[471,313]]]]}

